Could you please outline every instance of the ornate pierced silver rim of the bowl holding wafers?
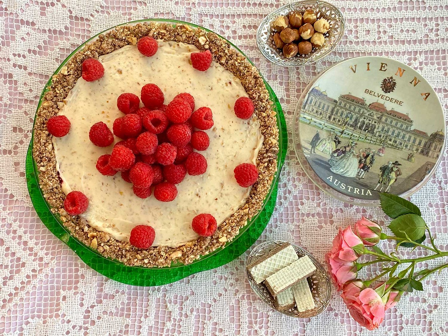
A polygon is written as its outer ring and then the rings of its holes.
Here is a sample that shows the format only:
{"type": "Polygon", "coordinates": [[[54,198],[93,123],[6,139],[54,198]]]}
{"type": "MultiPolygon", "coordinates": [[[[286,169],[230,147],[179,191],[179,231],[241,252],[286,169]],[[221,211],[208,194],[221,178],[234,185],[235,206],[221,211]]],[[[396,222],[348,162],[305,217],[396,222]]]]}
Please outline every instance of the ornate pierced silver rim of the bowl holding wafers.
{"type": "MultiPolygon", "coordinates": [[[[304,248],[289,242],[289,241],[281,241],[281,240],[275,240],[275,241],[265,241],[263,243],[258,244],[257,246],[255,246],[249,253],[249,255],[247,256],[246,259],[246,278],[249,281],[250,284],[250,288],[252,289],[252,291],[261,299],[263,300],[265,303],[267,303],[267,305],[269,305],[271,308],[279,311],[282,314],[285,314],[287,316],[291,316],[291,317],[295,317],[295,318],[299,318],[299,319],[303,319],[303,318],[310,318],[310,317],[314,317],[319,315],[320,313],[322,313],[324,310],[327,309],[328,305],[330,304],[330,300],[332,297],[332,283],[330,280],[330,277],[327,274],[327,271],[325,270],[325,268],[321,265],[321,263],[319,263],[319,260],[317,260],[310,252],[308,252],[307,250],[305,250],[304,248]],[[298,312],[295,308],[289,309],[289,310],[281,310],[278,309],[276,307],[276,305],[274,304],[274,298],[271,297],[270,295],[266,295],[264,294],[259,287],[263,286],[263,284],[256,284],[254,279],[252,278],[252,276],[250,275],[249,270],[247,269],[247,266],[250,265],[250,263],[252,263],[254,260],[252,260],[253,258],[256,257],[256,254],[258,253],[258,251],[263,250],[264,248],[268,247],[268,246],[279,246],[281,244],[284,243],[289,243],[294,247],[294,250],[296,250],[296,252],[298,252],[301,256],[303,255],[307,255],[311,261],[314,263],[314,265],[316,266],[316,272],[319,272],[320,275],[324,278],[324,284],[327,288],[327,292],[324,293],[324,299],[323,302],[321,304],[321,306],[314,308],[313,310],[308,310],[306,312],[298,312]],[[309,314],[309,313],[314,313],[314,314],[309,314]],[[304,313],[308,313],[308,314],[304,314],[304,313]]],[[[322,283],[321,283],[322,284],[322,283]]]]}

